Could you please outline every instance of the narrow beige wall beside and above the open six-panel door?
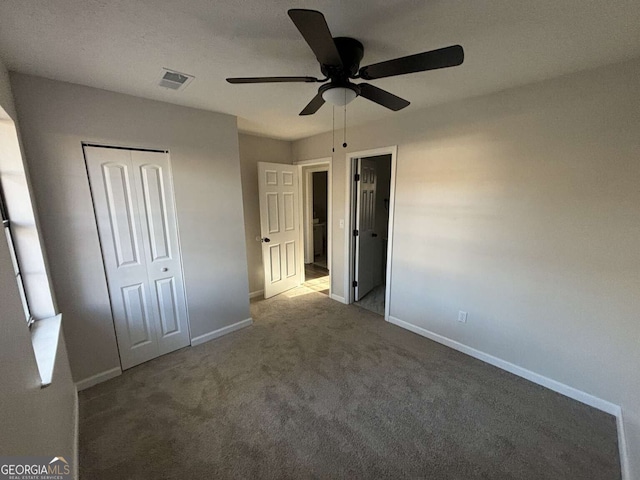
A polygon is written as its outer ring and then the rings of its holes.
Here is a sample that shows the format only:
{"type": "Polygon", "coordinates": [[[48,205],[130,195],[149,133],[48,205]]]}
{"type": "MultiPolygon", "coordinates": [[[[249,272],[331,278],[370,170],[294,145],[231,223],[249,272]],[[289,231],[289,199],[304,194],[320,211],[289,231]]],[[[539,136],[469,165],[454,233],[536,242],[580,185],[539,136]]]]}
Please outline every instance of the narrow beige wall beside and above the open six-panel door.
{"type": "Polygon", "coordinates": [[[244,230],[247,243],[249,291],[264,290],[262,246],[260,237],[260,203],[258,198],[258,162],[292,163],[291,142],[257,137],[241,133],[240,168],[242,172],[242,203],[244,230]]]}

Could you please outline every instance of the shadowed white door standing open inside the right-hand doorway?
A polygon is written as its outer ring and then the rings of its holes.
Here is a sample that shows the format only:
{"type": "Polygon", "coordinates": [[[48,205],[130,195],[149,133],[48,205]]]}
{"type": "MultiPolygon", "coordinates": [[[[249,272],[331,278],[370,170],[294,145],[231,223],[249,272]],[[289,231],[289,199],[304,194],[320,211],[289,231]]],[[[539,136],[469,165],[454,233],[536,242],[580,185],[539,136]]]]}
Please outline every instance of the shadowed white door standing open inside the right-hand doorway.
{"type": "Polygon", "coordinates": [[[358,159],[358,200],[356,202],[355,301],[375,286],[376,281],[376,182],[375,160],[358,159]]]}

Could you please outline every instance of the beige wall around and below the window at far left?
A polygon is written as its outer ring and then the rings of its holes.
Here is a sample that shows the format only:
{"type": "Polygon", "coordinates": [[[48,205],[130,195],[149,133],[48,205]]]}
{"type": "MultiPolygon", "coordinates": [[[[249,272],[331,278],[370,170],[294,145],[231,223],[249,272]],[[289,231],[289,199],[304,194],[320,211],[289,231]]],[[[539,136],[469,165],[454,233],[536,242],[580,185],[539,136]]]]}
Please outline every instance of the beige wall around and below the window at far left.
{"type": "MultiPolygon", "coordinates": [[[[15,119],[9,77],[0,62],[0,116],[15,119]]],[[[0,235],[0,452],[75,456],[76,391],[60,336],[52,384],[42,389],[4,235],[0,235]]]]}

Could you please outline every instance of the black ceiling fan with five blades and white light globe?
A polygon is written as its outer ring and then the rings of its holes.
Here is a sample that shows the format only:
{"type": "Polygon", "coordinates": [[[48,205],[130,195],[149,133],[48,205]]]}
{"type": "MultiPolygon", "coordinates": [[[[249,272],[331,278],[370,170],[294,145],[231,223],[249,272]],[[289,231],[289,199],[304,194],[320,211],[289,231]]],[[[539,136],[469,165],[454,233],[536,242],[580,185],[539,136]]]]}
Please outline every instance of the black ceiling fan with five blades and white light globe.
{"type": "Polygon", "coordinates": [[[325,78],[315,77],[244,77],[227,78],[229,83],[280,83],[307,82],[323,83],[318,93],[300,112],[300,115],[312,115],[324,105],[325,101],[342,106],[361,96],[393,111],[409,105],[386,90],[369,83],[355,84],[352,79],[376,80],[378,78],[424,72],[438,68],[455,67],[464,60],[464,50],[460,45],[431,50],[407,57],[387,60],[360,68],[364,55],[362,43],[354,38],[331,36],[322,13],[316,10],[291,9],[289,17],[298,28],[302,37],[311,47],[325,78]],[[328,83],[326,83],[328,82],[328,83]]]}

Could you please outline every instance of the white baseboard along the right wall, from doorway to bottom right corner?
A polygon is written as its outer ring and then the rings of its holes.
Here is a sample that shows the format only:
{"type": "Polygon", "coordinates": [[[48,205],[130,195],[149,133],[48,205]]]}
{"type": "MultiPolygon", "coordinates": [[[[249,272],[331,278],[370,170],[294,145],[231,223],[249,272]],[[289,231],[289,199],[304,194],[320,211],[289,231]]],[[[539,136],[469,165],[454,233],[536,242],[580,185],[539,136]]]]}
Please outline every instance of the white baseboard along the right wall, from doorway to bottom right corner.
{"type": "Polygon", "coordinates": [[[507,362],[506,360],[502,360],[501,358],[494,357],[493,355],[489,355],[488,353],[481,352],[480,350],[476,350],[475,348],[469,347],[463,343],[457,342],[456,340],[452,340],[438,333],[431,332],[425,328],[418,327],[413,325],[412,323],[405,322],[404,320],[400,320],[399,318],[389,316],[389,322],[402,327],[406,330],[409,330],[413,333],[417,333],[423,337],[426,337],[434,342],[445,345],[449,348],[453,348],[459,352],[465,353],[473,358],[477,358],[478,360],[482,360],[494,367],[498,367],[502,370],[506,370],[509,373],[513,373],[519,377],[522,377],[526,380],[529,380],[533,383],[537,383],[538,385],[542,385],[554,392],[560,393],[566,397],[577,400],[580,403],[584,403],[589,405],[590,407],[597,408],[603,412],[606,412],[610,415],[616,417],[616,423],[618,426],[618,448],[620,450],[620,464],[622,469],[622,478],[623,480],[631,480],[631,472],[629,467],[629,457],[627,453],[627,442],[624,434],[624,426],[622,422],[622,409],[620,405],[616,405],[615,403],[608,402],[601,398],[598,398],[589,393],[583,392],[582,390],[578,390],[577,388],[570,387],[569,385],[565,385],[564,383],[560,383],[556,380],[552,380],[551,378],[545,377],[544,375],[540,375],[539,373],[532,372],[531,370],[527,370],[526,368],[519,367],[511,362],[507,362]]]}

